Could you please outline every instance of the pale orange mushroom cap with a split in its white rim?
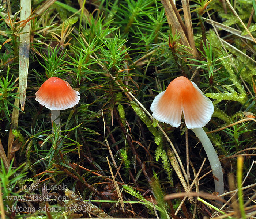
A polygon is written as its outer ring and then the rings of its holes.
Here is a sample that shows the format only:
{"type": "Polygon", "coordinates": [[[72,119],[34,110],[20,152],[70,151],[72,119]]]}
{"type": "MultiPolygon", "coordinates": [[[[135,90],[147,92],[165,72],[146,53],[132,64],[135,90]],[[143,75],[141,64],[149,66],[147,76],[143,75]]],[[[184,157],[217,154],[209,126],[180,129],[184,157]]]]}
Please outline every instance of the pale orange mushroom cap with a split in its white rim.
{"type": "Polygon", "coordinates": [[[212,101],[183,76],[175,78],[155,97],[150,110],[153,118],[176,128],[181,124],[182,112],[187,128],[204,127],[214,112],[212,101]]]}

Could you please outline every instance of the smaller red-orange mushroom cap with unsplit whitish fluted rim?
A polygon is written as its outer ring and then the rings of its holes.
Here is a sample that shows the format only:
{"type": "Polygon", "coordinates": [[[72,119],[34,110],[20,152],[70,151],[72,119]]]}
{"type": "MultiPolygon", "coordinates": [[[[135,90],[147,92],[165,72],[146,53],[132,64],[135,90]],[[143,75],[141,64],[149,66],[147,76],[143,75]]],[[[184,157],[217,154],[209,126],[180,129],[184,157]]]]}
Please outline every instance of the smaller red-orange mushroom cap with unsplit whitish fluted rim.
{"type": "Polygon", "coordinates": [[[35,100],[49,110],[66,110],[78,104],[79,95],[67,81],[51,77],[35,93],[35,100]]]}

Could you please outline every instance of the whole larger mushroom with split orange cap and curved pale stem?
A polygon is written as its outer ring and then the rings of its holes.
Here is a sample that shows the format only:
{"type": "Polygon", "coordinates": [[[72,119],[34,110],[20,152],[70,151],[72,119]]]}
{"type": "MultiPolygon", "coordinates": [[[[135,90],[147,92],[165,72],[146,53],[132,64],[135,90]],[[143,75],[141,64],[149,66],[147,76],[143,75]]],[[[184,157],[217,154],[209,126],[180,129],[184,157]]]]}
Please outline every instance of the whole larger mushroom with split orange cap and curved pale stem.
{"type": "Polygon", "coordinates": [[[155,97],[150,110],[153,112],[153,118],[176,128],[181,124],[183,113],[187,128],[192,129],[201,141],[210,162],[212,173],[218,179],[214,179],[215,192],[218,192],[219,195],[223,194],[224,183],[221,162],[202,128],[210,121],[214,112],[212,101],[204,96],[194,82],[181,76],[170,82],[167,89],[155,97]]]}

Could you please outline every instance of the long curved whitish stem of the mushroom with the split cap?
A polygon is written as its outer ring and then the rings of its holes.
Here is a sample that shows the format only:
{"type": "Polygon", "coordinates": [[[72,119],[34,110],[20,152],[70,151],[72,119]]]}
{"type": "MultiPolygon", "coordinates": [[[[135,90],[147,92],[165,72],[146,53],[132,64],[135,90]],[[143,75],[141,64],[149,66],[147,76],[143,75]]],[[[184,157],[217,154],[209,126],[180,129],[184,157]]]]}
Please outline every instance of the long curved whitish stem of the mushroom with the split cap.
{"type": "Polygon", "coordinates": [[[218,178],[218,180],[214,179],[215,192],[218,192],[219,195],[221,195],[224,192],[224,182],[221,162],[219,161],[218,155],[203,128],[193,128],[192,131],[196,134],[204,147],[208,160],[210,161],[212,174],[214,177],[218,178]]]}

